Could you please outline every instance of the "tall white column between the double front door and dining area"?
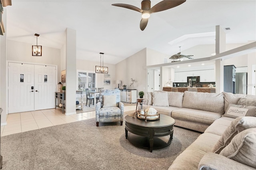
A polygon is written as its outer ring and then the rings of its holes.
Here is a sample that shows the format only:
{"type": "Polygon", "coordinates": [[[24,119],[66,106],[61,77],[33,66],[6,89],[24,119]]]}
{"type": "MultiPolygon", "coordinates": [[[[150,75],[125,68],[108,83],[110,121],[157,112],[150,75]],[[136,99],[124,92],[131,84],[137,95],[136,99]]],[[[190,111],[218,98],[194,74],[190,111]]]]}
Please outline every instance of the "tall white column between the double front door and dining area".
{"type": "Polygon", "coordinates": [[[76,30],[66,29],[66,115],[76,114],[76,30]]]}

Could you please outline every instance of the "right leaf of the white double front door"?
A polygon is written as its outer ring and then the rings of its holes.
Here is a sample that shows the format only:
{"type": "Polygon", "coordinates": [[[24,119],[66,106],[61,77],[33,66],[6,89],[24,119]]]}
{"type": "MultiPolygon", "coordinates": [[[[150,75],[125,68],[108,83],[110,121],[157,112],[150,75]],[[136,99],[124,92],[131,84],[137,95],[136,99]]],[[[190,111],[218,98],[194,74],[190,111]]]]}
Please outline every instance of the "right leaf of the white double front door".
{"type": "Polygon", "coordinates": [[[50,109],[55,106],[56,67],[35,65],[35,110],[50,109]]]}

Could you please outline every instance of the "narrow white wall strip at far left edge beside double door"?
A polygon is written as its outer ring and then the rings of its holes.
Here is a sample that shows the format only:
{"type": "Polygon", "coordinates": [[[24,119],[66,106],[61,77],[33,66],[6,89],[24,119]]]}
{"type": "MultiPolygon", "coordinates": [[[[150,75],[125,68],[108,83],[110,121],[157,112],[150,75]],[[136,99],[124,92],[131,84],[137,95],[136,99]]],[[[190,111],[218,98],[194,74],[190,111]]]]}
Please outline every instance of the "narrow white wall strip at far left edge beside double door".
{"type": "Polygon", "coordinates": [[[8,114],[8,98],[7,98],[7,55],[6,55],[6,34],[8,31],[7,24],[6,24],[6,13],[7,10],[4,8],[4,13],[2,14],[2,21],[5,27],[5,33],[3,36],[0,36],[0,107],[3,109],[1,114],[1,125],[6,125],[6,115],[8,114]]]}

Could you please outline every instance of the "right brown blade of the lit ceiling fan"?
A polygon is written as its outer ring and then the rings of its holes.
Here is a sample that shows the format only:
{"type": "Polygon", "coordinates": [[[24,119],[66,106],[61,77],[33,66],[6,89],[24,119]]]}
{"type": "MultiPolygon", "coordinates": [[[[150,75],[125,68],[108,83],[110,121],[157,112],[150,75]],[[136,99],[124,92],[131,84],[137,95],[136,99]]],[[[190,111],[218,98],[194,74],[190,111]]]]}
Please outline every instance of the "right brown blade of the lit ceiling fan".
{"type": "Polygon", "coordinates": [[[186,0],[163,0],[153,6],[149,11],[150,13],[154,12],[160,12],[164,10],[168,10],[170,8],[174,8],[176,6],[179,6],[180,4],[186,2],[186,0]]]}

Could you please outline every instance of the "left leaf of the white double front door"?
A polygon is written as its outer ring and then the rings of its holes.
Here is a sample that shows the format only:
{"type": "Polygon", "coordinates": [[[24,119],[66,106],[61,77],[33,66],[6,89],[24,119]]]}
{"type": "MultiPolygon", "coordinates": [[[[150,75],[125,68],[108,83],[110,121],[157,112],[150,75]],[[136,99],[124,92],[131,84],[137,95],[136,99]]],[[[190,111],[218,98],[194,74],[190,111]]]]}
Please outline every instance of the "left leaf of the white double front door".
{"type": "Polygon", "coordinates": [[[34,64],[8,63],[8,113],[34,110],[34,64]]]}

